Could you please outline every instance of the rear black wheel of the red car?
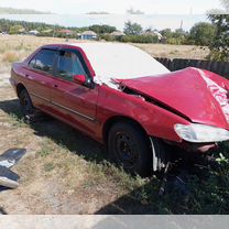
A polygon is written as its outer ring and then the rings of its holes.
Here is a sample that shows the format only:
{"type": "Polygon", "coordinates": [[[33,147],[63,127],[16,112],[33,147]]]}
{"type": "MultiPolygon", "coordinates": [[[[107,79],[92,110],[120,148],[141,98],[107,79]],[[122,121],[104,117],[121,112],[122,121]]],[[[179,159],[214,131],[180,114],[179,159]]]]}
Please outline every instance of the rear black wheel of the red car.
{"type": "Polygon", "coordinates": [[[21,110],[24,117],[31,116],[34,113],[34,107],[31,101],[30,95],[26,89],[23,89],[19,95],[19,100],[21,105],[21,110]]]}

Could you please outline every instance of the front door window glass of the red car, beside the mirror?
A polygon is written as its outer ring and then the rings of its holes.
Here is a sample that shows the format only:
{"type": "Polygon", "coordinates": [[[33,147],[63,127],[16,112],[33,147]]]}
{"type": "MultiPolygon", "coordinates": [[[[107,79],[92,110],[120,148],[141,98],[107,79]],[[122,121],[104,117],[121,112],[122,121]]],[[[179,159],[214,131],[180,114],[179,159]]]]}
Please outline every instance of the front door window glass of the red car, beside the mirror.
{"type": "Polygon", "coordinates": [[[79,57],[73,52],[61,51],[56,64],[56,76],[73,81],[74,75],[86,75],[79,57]]]}

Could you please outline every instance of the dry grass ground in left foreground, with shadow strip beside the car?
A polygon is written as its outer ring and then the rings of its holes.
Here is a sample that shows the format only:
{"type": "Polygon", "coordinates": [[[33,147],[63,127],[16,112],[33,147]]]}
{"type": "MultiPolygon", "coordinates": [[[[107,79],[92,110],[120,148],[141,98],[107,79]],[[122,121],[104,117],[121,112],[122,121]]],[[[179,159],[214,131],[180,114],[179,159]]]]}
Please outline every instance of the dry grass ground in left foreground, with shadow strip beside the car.
{"type": "Polygon", "coordinates": [[[13,90],[0,87],[0,152],[28,150],[14,167],[19,188],[0,193],[7,212],[94,214],[146,183],[111,165],[100,144],[64,123],[29,126],[21,117],[13,90]]]}

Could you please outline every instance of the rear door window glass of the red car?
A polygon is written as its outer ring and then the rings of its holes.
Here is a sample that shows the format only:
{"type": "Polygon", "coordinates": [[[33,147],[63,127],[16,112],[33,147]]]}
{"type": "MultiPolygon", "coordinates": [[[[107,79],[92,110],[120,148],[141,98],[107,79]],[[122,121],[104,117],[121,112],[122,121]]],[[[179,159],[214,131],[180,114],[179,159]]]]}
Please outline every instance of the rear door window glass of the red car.
{"type": "Polygon", "coordinates": [[[53,72],[56,52],[51,50],[41,50],[30,62],[30,66],[46,73],[53,72]]]}

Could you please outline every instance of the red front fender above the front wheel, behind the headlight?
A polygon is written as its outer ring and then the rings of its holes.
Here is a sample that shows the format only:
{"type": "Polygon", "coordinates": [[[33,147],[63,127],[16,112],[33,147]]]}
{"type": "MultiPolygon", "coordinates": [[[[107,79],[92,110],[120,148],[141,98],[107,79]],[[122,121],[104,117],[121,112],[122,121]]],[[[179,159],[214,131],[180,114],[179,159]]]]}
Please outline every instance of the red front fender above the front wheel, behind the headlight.
{"type": "MultiPolygon", "coordinates": [[[[132,95],[101,86],[98,98],[97,119],[102,126],[112,117],[127,117],[140,123],[151,137],[182,142],[174,131],[174,124],[190,123],[172,111],[144,101],[132,95]]],[[[102,130],[98,130],[102,134],[102,130]]]]}

